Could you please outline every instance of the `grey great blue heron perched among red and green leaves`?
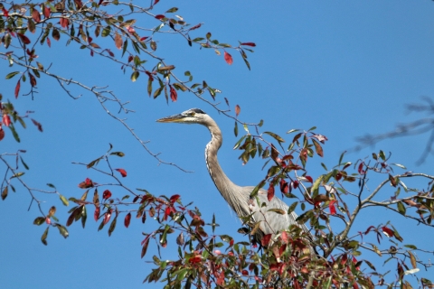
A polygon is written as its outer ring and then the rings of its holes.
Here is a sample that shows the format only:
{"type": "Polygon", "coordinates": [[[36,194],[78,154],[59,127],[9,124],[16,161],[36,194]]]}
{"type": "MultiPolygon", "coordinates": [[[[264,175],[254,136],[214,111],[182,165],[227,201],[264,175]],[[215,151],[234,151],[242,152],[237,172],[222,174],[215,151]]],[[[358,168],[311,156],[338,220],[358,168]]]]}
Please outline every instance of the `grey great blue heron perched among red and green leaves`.
{"type": "Polygon", "coordinates": [[[214,182],[217,190],[220,191],[224,200],[228,202],[239,218],[252,214],[251,221],[253,223],[260,222],[260,230],[254,236],[256,241],[260,242],[264,235],[276,234],[278,231],[288,229],[290,225],[297,225],[307,231],[304,225],[297,223],[296,213],[291,212],[280,215],[274,211],[269,211],[269,209],[280,209],[287,212],[288,205],[283,200],[278,199],[276,196],[268,200],[267,191],[260,189],[258,203],[256,198],[250,199],[250,193],[255,187],[241,187],[231,182],[222,171],[217,159],[217,152],[223,142],[222,131],[212,117],[208,116],[202,109],[188,109],[179,115],[163,117],[156,121],[160,123],[199,124],[206,126],[210,130],[211,141],[205,147],[205,163],[212,182],[214,182]],[[265,206],[263,206],[263,203],[265,203],[265,206]]]}

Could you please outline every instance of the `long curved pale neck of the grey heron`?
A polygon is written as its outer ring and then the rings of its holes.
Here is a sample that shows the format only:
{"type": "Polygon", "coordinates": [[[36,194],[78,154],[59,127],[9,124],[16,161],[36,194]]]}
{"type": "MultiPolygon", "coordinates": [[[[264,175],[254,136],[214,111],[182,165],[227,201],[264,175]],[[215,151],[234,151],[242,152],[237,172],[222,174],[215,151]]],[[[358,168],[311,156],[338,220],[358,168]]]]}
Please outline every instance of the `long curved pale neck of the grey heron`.
{"type": "Polygon", "coordinates": [[[208,172],[210,172],[212,182],[214,182],[223,198],[231,205],[231,193],[234,191],[234,188],[236,188],[237,185],[231,182],[231,180],[222,171],[222,167],[220,166],[219,160],[217,159],[217,152],[223,143],[222,131],[214,121],[212,121],[211,125],[209,124],[207,127],[211,133],[211,141],[206,144],[205,147],[206,167],[208,168],[208,172]]]}

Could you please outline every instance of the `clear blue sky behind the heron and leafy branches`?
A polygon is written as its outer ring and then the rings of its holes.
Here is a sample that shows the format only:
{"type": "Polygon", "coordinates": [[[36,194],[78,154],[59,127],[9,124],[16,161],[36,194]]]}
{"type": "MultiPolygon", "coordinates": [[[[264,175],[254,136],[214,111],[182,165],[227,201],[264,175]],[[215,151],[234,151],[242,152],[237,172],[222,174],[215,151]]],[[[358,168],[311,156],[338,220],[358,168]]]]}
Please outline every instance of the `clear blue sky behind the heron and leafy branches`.
{"type": "MultiPolygon", "coordinates": [[[[176,72],[190,70],[195,80],[203,79],[222,90],[218,98],[228,98],[231,107],[241,106],[241,119],[247,122],[264,119],[264,131],[285,135],[291,128],[308,129],[326,135],[324,162],[337,163],[339,154],[353,147],[356,136],[382,133],[395,124],[418,116],[406,116],[404,104],[432,97],[434,92],[434,4],[432,1],[161,1],[154,13],[160,14],[177,6],[176,14],[189,23],[204,23],[192,33],[203,36],[212,32],[220,42],[256,42],[249,53],[251,70],[247,70],[236,51],[229,51],[234,63],[229,66],[212,50],[189,47],[180,37],[158,36],[158,50],[165,61],[175,64],[176,72]]],[[[154,20],[145,20],[156,25],[154,20]]],[[[98,43],[101,40],[95,40],[98,43]]],[[[109,45],[112,45],[109,43],[109,45]]],[[[80,197],[77,184],[86,177],[99,182],[97,173],[73,165],[89,163],[104,154],[109,143],[126,156],[114,159],[114,167],[127,170],[125,182],[131,188],[144,188],[156,195],[178,193],[184,203],[193,200],[211,220],[215,213],[221,225],[218,233],[237,235],[241,223],[231,212],[206,172],[203,150],[210,135],[203,126],[157,124],[156,119],[201,107],[222,128],[224,143],[219,153],[223,170],[235,183],[255,185],[263,177],[261,160],[242,166],[239,152],[231,148],[237,141],[233,120],[219,114],[203,101],[189,94],[179,94],[178,101],[165,104],[163,97],[147,97],[146,77],[135,83],[124,75],[118,65],[90,58],[65,40],[52,40],[52,48],[37,48],[39,61],[45,67],[52,62],[52,71],[89,85],[114,90],[118,97],[130,101],[136,113],[128,114],[127,122],[137,135],[149,140],[148,147],[161,158],[179,164],[193,173],[184,173],[172,166],[158,165],[133,137],[110,118],[97,100],[84,94],[79,100],[66,96],[52,79],[38,79],[39,94],[32,100],[20,96],[15,101],[19,111],[34,110],[43,133],[31,124],[20,130],[22,142],[16,144],[10,134],[2,141],[2,152],[26,149],[24,160],[31,170],[24,180],[32,187],[44,188],[54,183],[67,197],[80,197]]],[[[112,51],[116,48],[111,47],[112,51]]],[[[5,51],[0,48],[0,51],[5,51]]],[[[17,70],[3,62],[2,75],[17,70]]],[[[15,80],[1,81],[4,98],[13,98],[15,80]]],[[[24,92],[24,90],[22,90],[24,92]]],[[[82,93],[72,89],[76,94],[82,93]]],[[[225,105],[223,105],[224,107],[225,105]]],[[[125,116],[124,116],[125,117],[125,116]]],[[[8,131],[6,131],[9,133],[8,131]]],[[[289,138],[288,138],[289,140],[289,138]]],[[[356,161],[372,150],[392,151],[392,162],[403,163],[409,170],[433,174],[432,158],[415,166],[424,148],[426,136],[385,141],[358,154],[347,154],[345,160],[356,161]]],[[[324,173],[320,165],[310,166],[314,178],[324,173]]],[[[417,183],[417,182],[416,182],[417,183]]],[[[420,182],[420,187],[425,185],[420,182]]],[[[374,186],[374,185],[373,185],[374,186]]],[[[40,241],[43,228],[33,225],[36,207],[27,211],[30,196],[17,186],[0,202],[0,259],[4,266],[0,284],[5,288],[135,288],[150,272],[146,263],[156,254],[151,243],[145,259],[140,259],[142,231],[152,230],[152,222],[142,225],[133,219],[130,228],[118,228],[109,238],[107,229],[97,232],[99,223],[89,218],[83,230],[80,224],[69,228],[70,238],[64,240],[50,229],[48,247],[40,241]]],[[[389,190],[389,189],[387,189],[389,190]]],[[[382,200],[392,192],[384,191],[382,200]]],[[[114,191],[121,197],[123,192],[114,191]]],[[[58,198],[42,196],[46,206],[58,207],[56,216],[65,222],[67,214],[58,198]]],[[[91,216],[90,216],[91,217],[91,216]]],[[[357,224],[361,230],[392,219],[406,244],[432,247],[432,229],[416,227],[401,218],[392,218],[385,210],[364,214],[357,224]]],[[[170,240],[169,240],[170,242],[170,240]]],[[[172,240],[172,245],[175,244],[172,240]]],[[[383,241],[387,242],[387,241],[383,241]]],[[[386,243],[387,244],[387,243],[386,243]]],[[[171,244],[169,244],[169,247],[171,244]]],[[[164,256],[175,256],[174,249],[165,249],[164,256]]],[[[383,261],[383,260],[382,260],[383,261]]],[[[382,261],[380,264],[382,264],[382,261]]],[[[428,275],[427,275],[428,274],[428,275]]],[[[432,272],[430,273],[432,274],[432,272]]],[[[420,272],[419,276],[429,277],[420,272]]],[[[162,284],[146,284],[146,288],[162,284]]]]}

